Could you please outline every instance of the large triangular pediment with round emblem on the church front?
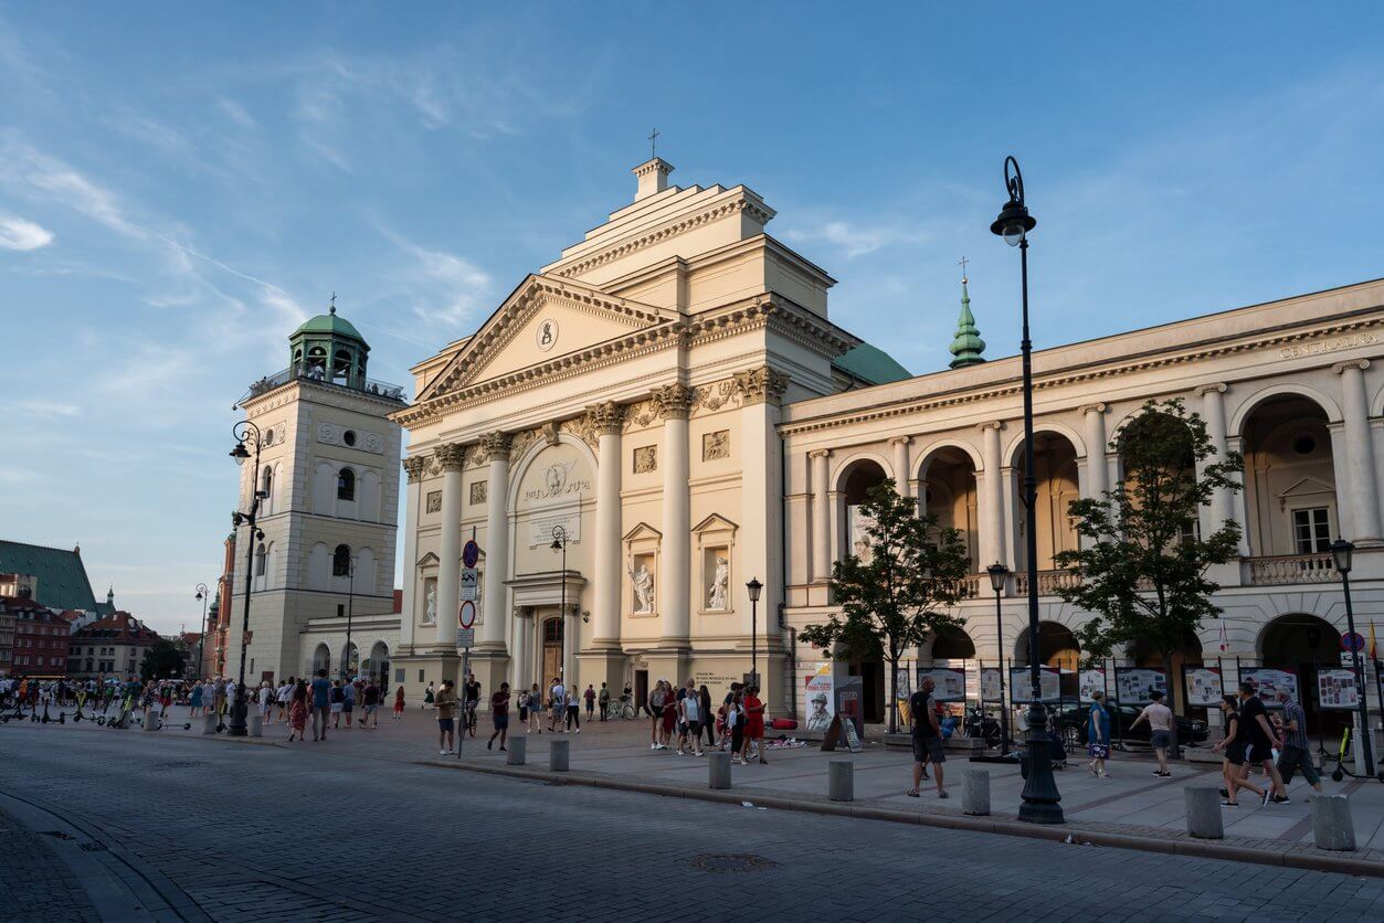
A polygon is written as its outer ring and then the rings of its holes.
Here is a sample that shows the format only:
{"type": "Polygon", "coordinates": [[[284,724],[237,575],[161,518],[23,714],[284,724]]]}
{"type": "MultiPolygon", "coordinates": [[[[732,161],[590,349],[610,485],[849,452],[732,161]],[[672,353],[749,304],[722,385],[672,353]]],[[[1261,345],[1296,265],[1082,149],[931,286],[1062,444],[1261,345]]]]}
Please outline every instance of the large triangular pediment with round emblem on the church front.
{"type": "Polygon", "coordinates": [[[554,363],[675,321],[678,313],[549,275],[529,275],[421,394],[428,401],[477,382],[554,363]]]}

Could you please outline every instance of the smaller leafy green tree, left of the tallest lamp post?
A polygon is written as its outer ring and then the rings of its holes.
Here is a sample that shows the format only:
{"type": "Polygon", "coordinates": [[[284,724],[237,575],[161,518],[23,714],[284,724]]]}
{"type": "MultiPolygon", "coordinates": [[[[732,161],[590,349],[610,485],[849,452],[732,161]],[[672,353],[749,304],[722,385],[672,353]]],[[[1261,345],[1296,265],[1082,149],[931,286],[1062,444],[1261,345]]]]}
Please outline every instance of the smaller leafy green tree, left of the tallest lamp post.
{"type": "Polygon", "coordinates": [[[898,729],[898,661],[909,648],[962,623],[949,609],[970,567],[956,529],[919,515],[893,480],[869,488],[859,505],[865,547],[832,565],[832,599],[841,614],[808,625],[801,638],[846,657],[883,656],[890,664],[889,729],[898,729]]]}

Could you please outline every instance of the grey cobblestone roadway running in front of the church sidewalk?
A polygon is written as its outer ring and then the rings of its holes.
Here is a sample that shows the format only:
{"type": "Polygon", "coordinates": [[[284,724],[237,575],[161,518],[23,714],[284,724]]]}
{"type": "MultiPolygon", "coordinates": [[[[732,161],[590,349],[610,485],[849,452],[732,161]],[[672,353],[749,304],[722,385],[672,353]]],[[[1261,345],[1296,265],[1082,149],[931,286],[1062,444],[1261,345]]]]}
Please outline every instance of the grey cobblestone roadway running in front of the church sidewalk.
{"type": "MultiPolygon", "coordinates": [[[[0,796],[84,825],[184,919],[1384,919],[1378,879],[549,786],[367,753],[15,725],[0,740],[0,796]]],[[[51,913],[0,906],[0,917],[66,919],[65,894],[40,898],[51,913]]]]}

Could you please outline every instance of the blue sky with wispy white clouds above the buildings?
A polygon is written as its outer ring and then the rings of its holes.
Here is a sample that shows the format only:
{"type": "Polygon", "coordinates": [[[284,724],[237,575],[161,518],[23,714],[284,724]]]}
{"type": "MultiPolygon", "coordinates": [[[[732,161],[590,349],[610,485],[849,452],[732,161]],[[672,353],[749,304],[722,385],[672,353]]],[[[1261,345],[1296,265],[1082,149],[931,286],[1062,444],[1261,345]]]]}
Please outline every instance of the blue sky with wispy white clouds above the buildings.
{"type": "Polygon", "coordinates": [[[659,152],[745,183],[832,317],[944,365],[1381,273],[1378,4],[0,4],[0,537],[191,628],[245,386],[332,291],[374,376],[469,332],[659,152]]]}

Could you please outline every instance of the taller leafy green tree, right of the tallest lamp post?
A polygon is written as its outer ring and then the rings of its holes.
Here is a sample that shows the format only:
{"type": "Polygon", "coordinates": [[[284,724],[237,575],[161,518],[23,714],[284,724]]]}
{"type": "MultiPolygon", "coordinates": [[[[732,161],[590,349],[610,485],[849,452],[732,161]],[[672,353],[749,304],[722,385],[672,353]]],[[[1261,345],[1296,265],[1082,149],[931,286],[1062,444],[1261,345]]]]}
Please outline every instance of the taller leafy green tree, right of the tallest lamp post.
{"type": "Polygon", "coordinates": [[[1228,519],[1203,536],[1201,508],[1218,490],[1240,490],[1244,459],[1218,458],[1205,422],[1181,399],[1146,401],[1110,448],[1124,475],[1100,498],[1071,504],[1082,547],[1055,556],[1078,578],[1062,596],[1095,613],[1078,635],[1082,652],[1147,645],[1163,655],[1171,686],[1172,655],[1221,612],[1211,602],[1221,587],[1207,569],[1239,554],[1239,523],[1228,519]]]}

